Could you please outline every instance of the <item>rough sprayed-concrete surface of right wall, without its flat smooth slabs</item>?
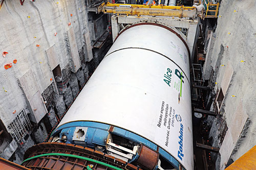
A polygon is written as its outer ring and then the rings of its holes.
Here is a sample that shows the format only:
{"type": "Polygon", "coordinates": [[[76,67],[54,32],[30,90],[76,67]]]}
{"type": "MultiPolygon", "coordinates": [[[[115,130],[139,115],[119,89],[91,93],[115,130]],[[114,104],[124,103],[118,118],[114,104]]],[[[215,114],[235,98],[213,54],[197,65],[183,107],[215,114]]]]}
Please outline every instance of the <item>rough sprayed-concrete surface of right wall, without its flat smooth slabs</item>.
{"type": "MultiPolygon", "coordinates": [[[[219,10],[218,25],[216,29],[216,41],[211,56],[211,66],[218,70],[216,72],[218,83],[215,87],[220,89],[221,82],[225,76],[226,66],[230,63],[233,68],[233,76],[226,92],[223,109],[228,128],[236,127],[236,118],[234,114],[238,110],[241,101],[241,107],[248,116],[251,123],[248,132],[236,146],[237,152],[231,155],[233,160],[237,160],[256,144],[256,2],[248,1],[222,1],[219,10]],[[221,45],[224,47],[220,65],[218,65],[218,55],[221,52],[221,45]],[[243,62],[244,61],[244,62],[243,62]],[[233,96],[232,96],[233,95],[233,96]]],[[[244,127],[241,125],[242,127],[244,127]]],[[[238,130],[240,131],[240,130],[238,130]]],[[[240,132],[241,133],[241,132],[240,132]]],[[[231,135],[230,135],[231,136],[231,135]]],[[[241,138],[241,136],[239,137],[241,138]]],[[[238,139],[240,140],[240,139],[238,139]]],[[[232,141],[236,143],[237,141],[232,141]]],[[[232,152],[223,152],[225,157],[232,152]]],[[[220,168],[223,169],[227,160],[220,162],[220,168]]],[[[218,164],[218,162],[217,162],[218,164]]]]}

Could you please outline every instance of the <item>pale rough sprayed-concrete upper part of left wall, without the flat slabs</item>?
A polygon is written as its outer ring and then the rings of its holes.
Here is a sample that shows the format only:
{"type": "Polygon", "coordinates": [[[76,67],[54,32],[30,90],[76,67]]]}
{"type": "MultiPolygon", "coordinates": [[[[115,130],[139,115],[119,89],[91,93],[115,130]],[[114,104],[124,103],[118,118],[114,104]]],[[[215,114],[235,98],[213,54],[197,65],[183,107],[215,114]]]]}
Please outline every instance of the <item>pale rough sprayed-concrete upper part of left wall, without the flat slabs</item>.
{"type": "Polygon", "coordinates": [[[25,1],[23,6],[19,1],[5,1],[0,10],[0,20],[0,118],[7,127],[16,116],[12,112],[16,110],[18,113],[27,105],[18,84],[20,77],[32,70],[42,93],[53,79],[53,68],[50,68],[46,50],[55,46],[57,62],[62,69],[70,60],[65,42],[67,31],[74,29],[80,49],[84,45],[83,34],[89,29],[84,1],[25,1]],[[2,57],[3,52],[8,52],[5,58],[2,57]],[[5,69],[4,65],[8,63],[12,63],[12,67],[5,69]]]}

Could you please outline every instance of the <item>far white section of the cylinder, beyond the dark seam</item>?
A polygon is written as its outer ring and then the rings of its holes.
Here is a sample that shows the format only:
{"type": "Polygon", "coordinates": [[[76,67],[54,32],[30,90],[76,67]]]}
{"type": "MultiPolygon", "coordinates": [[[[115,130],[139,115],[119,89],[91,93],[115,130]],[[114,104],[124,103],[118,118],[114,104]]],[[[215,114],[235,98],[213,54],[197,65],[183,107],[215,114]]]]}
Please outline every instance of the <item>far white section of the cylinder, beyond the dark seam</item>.
{"type": "Polygon", "coordinates": [[[153,25],[140,25],[127,29],[118,36],[108,54],[122,48],[130,47],[146,48],[172,59],[181,67],[189,80],[189,56],[187,48],[173,32],[153,25]]]}

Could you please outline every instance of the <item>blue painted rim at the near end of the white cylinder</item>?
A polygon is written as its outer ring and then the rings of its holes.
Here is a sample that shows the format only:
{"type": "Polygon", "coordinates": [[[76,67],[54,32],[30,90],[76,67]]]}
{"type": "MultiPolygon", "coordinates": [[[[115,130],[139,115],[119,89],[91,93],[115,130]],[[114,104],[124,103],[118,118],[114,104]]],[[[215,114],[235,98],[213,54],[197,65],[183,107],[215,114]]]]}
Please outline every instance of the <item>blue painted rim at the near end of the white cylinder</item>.
{"type": "MultiPolygon", "coordinates": [[[[72,144],[79,144],[83,145],[84,147],[89,147],[95,149],[96,146],[105,147],[106,146],[106,140],[108,138],[109,133],[124,137],[126,139],[130,139],[132,141],[142,143],[146,147],[157,151],[157,145],[133,132],[126,131],[124,129],[114,127],[112,132],[109,132],[110,125],[102,124],[102,123],[96,123],[96,122],[71,122],[65,125],[62,125],[54,130],[52,133],[52,136],[55,136],[59,133],[59,138],[61,139],[63,136],[67,136],[67,140],[64,141],[66,143],[72,143],[72,144]],[[79,141],[74,140],[76,136],[74,137],[75,132],[78,130],[83,130],[85,138],[81,141],[81,138],[79,141]]],[[[83,138],[82,138],[83,139],[83,138]]],[[[63,141],[61,141],[63,142],[63,141]]],[[[175,168],[179,169],[179,162],[170,154],[168,154],[166,151],[161,149],[159,147],[159,154],[162,156],[165,160],[167,160],[170,164],[172,164],[175,168]]],[[[138,158],[138,155],[136,154],[132,160],[129,162],[133,162],[138,158]]]]}

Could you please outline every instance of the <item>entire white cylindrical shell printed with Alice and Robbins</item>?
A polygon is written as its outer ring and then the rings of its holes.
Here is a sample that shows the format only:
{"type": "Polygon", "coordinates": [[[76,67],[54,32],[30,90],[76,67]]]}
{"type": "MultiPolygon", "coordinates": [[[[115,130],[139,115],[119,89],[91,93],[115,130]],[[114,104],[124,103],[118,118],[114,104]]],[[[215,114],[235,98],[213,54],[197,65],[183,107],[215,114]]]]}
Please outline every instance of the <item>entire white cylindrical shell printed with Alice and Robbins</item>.
{"type": "Polygon", "coordinates": [[[194,169],[188,57],[183,42],[166,29],[145,25],[124,31],[59,126],[77,120],[114,125],[194,169]],[[187,78],[181,80],[178,72],[187,78]]]}

